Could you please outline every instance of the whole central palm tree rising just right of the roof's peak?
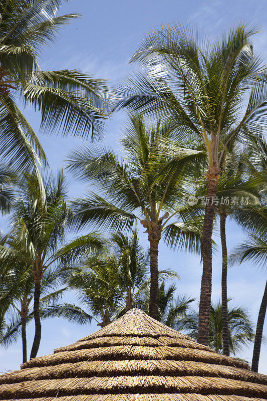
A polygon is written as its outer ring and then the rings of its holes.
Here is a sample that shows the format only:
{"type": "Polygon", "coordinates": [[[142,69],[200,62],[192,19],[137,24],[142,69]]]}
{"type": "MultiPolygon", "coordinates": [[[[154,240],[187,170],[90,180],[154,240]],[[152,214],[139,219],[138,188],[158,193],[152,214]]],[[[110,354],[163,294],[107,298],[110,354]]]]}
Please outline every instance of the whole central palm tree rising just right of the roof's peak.
{"type": "Polygon", "coordinates": [[[142,116],[131,116],[121,140],[125,157],[118,158],[105,148],[83,147],[72,152],[68,165],[76,176],[93,182],[103,194],[102,197],[88,192],[86,198],[72,202],[77,229],[92,224],[112,230],[129,229],[137,221],[146,229],[150,244],[149,315],[152,317],[157,314],[161,238],[167,245],[191,251],[198,250],[200,241],[195,208],[185,205],[189,175],[183,174],[182,168],[167,168],[171,158],[164,154],[162,143],[170,137],[168,124],[161,125],[158,121],[155,128],[148,128],[142,116]]]}

